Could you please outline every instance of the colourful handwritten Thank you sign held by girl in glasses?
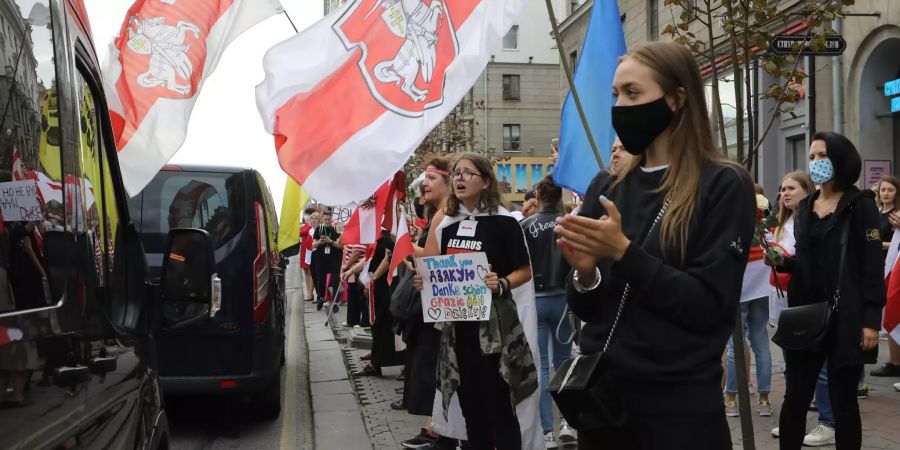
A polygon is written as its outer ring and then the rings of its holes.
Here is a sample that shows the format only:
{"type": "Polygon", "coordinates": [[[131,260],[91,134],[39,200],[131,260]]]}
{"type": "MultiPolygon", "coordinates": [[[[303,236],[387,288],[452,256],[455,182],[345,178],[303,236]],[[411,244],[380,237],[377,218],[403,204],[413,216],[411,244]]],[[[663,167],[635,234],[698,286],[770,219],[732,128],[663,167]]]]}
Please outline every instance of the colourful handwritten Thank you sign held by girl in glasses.
{"type": "Polygon", "coordinates": [[[422,276],[425,322],[484,321],[491,316],[491,291],[484,253],[458,253],[416,258],[422,276]]]}

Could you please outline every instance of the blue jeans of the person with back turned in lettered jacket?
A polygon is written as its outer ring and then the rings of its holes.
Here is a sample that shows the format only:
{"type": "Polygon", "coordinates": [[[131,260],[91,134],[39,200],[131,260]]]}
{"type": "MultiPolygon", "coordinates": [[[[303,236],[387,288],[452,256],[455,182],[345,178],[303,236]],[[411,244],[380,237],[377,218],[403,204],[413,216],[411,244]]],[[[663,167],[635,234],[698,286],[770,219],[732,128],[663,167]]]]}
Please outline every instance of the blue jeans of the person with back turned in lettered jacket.
{"type": "Polygon", "coordinates": [[[559,366],[572,354],[572,344],[560,344],[556,339],[556,327],[559,327],[559,337],[568,340],[572,334],[569,321],[563,317],[566,312],[566,294],[537,297],[538,313],[538,348],[541,351],[541,426],[544,434],[553,431],[553,399],[547,386],[550,385],[550,343],[553,344],[553,368],[559,366]]]}

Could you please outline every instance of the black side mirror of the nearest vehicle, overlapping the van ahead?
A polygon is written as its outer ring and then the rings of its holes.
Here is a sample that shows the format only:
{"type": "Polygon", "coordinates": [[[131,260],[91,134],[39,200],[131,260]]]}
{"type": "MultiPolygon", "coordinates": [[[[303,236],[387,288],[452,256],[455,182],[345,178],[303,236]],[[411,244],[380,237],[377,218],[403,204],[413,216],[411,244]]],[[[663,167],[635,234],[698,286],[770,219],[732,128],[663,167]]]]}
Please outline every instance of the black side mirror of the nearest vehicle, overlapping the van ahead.
{"type": "Polygon", "coordinates": [[[197,228],[169,231],[160,278],[160,297],[209,303],[209,316],[222,306],[222,285],[215,273],[216,258],[209,233],[197,228]]]}

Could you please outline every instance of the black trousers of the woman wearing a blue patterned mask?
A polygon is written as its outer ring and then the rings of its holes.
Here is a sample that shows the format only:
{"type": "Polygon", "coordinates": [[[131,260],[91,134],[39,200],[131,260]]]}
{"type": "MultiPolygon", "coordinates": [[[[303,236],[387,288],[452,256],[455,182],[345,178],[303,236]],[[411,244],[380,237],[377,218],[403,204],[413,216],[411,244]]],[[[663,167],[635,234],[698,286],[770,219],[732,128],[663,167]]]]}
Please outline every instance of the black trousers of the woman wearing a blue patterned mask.
{"type": "MultiPolygon", "coordinates": [[[[796,450],[806,434],[806,411],[816,391],[816,381],[826,355],[802,351],[784,351],[785,392],[778,422],[781,450],[796,450]]],[[[834,367],[828,360],[828,396],[834,411],[835,440],[838,450],[858,450],[862,446],[862,422],[856,388],[862,366],[834,367]]]]}

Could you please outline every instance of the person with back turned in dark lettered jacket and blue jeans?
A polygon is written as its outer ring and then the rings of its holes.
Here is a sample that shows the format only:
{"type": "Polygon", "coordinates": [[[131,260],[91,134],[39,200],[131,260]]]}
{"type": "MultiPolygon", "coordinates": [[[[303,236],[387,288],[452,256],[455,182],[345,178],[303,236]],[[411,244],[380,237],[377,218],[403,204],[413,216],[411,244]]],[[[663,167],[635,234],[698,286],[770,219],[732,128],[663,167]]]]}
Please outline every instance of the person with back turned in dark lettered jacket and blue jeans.
{"type": "MultiPolygon", "coordinates": [[[[567,320],[566,277],[571,268],[556,246],[556,219],[563,215],[562,188],[553,184],[547,176],[534,187],[540,212],[526,218],[519,225],[525,232],[525,241],[531,253],[534,273],[535,301],[538,313],[538,347],[541,351],[541,386],[550,384],[550,346],[553,349],[553,368],[558,370],[572,354],[572,326],[567,320]],[[552,343],[552,344],[551,344],[552,343]]],[[[544,444],[557,446],[553,435],[553,400],[550,392],[541,390],[541,427],[544,444]]],[[[565,419],[559,426],[560,441],[572,442],[575,433],[565,419]]]]}

